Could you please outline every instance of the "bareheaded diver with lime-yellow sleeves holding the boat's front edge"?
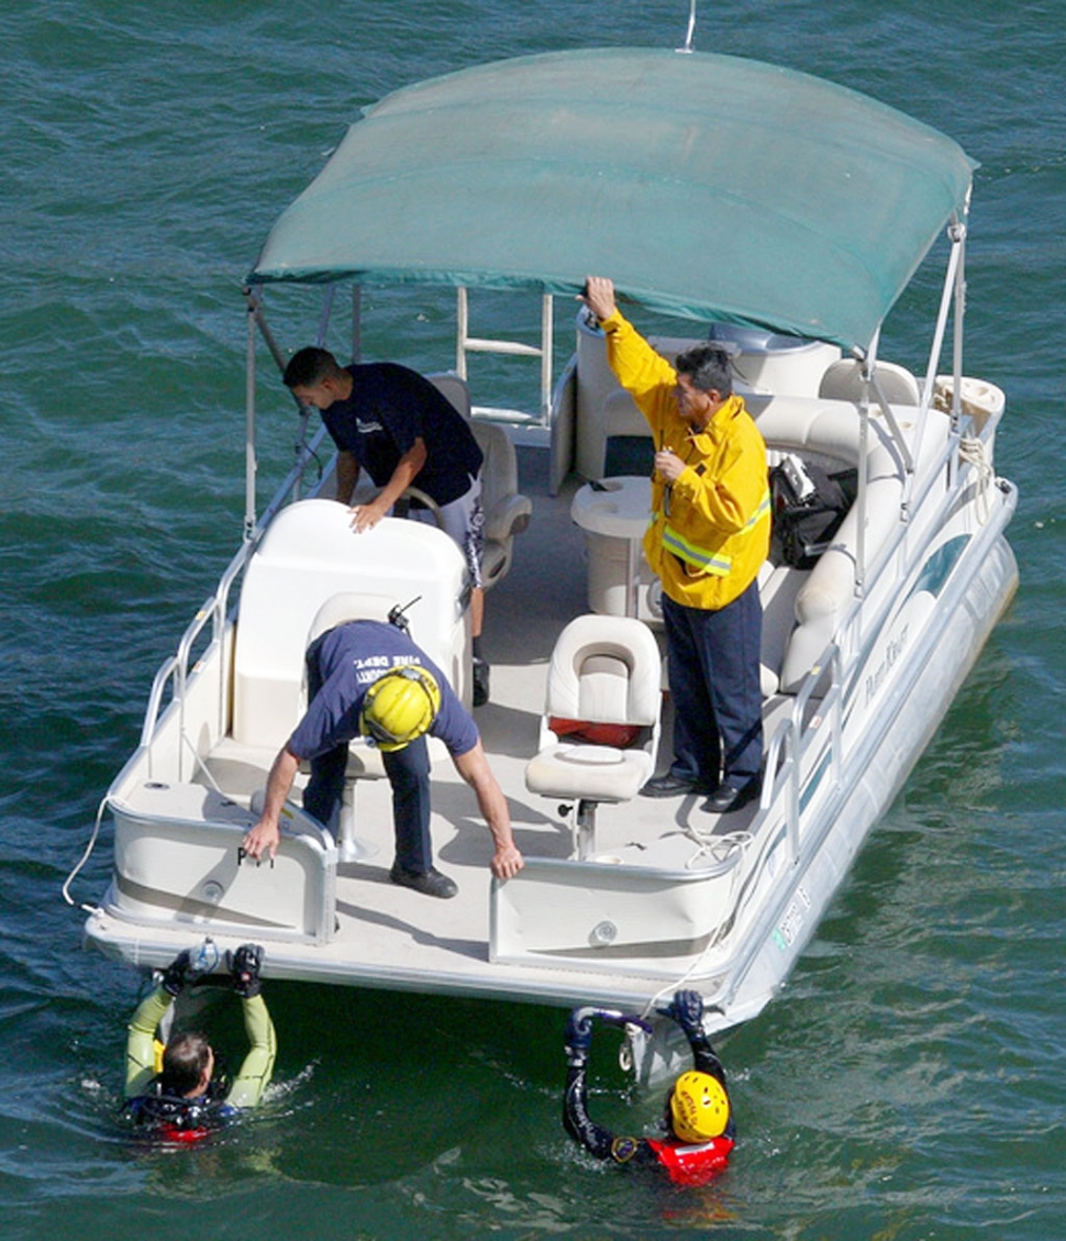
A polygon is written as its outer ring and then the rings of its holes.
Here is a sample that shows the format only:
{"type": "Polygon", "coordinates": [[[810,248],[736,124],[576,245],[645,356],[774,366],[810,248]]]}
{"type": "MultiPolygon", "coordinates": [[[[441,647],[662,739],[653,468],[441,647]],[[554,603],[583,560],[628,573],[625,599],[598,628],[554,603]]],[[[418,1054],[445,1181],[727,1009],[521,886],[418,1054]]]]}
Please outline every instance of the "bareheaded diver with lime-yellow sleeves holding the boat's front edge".
{"type": "Polygon", "coordinates": [[[138,1005],[125,1050],[123,1112],[153,1136],[196,1142],[221,1128],[242,1108],[254,1107],[274,1071],[277,1037],[261,994],[263,949],[242,944],[230,961],[232,985],[241,998],[251,1050],[232,1083],[216,1072],[215,1051],[202,1034],[179,1034],[165,1047],[156,1029],[181,989],[200,982],[213,967],[204,954],[186,949],[166,967],[163,979],[138,1005]],[[159,1052],[161,1051],[161,1066],[159,1052]]]}

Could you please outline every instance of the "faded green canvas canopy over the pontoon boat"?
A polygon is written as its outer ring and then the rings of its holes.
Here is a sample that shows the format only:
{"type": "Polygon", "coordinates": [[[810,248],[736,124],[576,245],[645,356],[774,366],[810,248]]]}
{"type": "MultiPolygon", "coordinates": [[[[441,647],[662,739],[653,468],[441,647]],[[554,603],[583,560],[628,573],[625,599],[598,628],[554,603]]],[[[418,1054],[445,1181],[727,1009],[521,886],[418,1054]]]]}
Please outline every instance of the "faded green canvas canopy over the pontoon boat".
{"type": "Polygon", "coordinates": [[[249,276],[577,293],[869,344],[975,165],[949,138],[728,56],[522,57],[367,109],[249,276]]]}

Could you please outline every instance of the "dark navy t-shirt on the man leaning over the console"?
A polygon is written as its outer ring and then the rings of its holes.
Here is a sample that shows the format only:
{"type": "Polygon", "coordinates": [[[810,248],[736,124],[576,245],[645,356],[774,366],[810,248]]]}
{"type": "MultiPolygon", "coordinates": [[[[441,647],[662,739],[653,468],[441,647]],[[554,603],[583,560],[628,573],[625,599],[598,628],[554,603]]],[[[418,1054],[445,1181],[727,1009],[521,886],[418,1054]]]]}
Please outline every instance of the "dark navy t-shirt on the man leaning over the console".
{"type": "Polygon", "coordinates": [[[375,486],[385,486],[400,458],[426,444],[426,464],[414,485],[437,504],[465,495],[481,468],[481,449],[465,419],[424,376],[397,362],[345,367],[351,396],[321,411],[333,442],[364,467],[375,486]]]}

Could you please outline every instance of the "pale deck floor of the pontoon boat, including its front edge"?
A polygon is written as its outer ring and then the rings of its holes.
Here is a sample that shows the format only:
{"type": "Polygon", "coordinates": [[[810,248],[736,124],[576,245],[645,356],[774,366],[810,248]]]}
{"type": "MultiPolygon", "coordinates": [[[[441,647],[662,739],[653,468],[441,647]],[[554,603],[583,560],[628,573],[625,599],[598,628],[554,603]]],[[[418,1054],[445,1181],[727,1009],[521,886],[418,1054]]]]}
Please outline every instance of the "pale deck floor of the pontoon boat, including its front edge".
{"type": "MultiPolygon", "coordinates": [[[[490,660],[491,701],[475,711],[490,764],[510,805],[515,840],[529,859],[566,859],[573,855],[570,818],[560,813],[560,800],[530,793],[525,767],[537,750],[540,715],[547,665],[555,639],[563,625],[588,611],[585,535],[570,516],[576,483],[558,496],[546,488],[546,453],[520,449],[521,486],[534,499],[534,517],[515,546],[515,562],[488,596],[485,652],[490,660]]],[[[791,700],[777,699],[778,712],[791,700]]],[[[772,704],[768,704],[768,709],[772,704]]],[[[769,722],[772,727],[772,722],[769,722]]],[[[659,769],[670,762],[669,706],[659,747],[659,769]]],[[[443,752],[442,752],[443,753],[443,752]]],[[[124,807],[148,820],[205,818],[243,829],[253,822],[247,798],[266,783],[273,758],[269,750],[253,751],[223,741],[207,761],[210,779],[201,783],[143,782],[124,797],[124,807]],[[232,798],[227,804],[218,792],[232,798]]],[[[304,777],[299,777],[303,783],[304,777]]],[[[298,792],[293,798],[298,800],[298,792]]],[[[619,975],[604,953],[603,972],[575,962],[560,968],[489,961],[489,861],[491,836],[479,818],[473,792],[447,757],[434,757],[432,836],[437,865],[459,886],[452,900],[436,900],[397,887],[388,879],[393,860],[391,789],[387,779],[362,779],[356,786],[356,838],[366,850],[359,861],[340,861],[336,869],[336,927],[328,943],[273,943],[267,946],[267,973],[272,977],[313,978],[352,985],[419,992],[514,995],[522,1000],[570,1004],[577,1000],[619,1003],[630,998],[645,1003],[660,989],[680,979],[692,965],[691,949],[683,947],[675,959],[656,962],[654,974],[619,975]]],[[[704,798],[668,800],[635,798],[603,804],[597,812],[596,853],[629,865],[684,871],[706,865],[709,854],[690,829],[710,835],[745,830],[756,805],[716,819],[700,809],[704,798]]],[[[236,831],[233,836],[237,840],[236,831]]],[[[244,866],[251,865],[248,861],[244,866]]],[[[92,920],[92,934],[102,947],[123,956],[158,963],[170,947],[185,946],[192,925],[135,927],[101,912],[92,920]],[[145,934],[145,932],[148,932],[145,934]],[[150,943],[149,943],[150,941],[150,943]]],[[[202,933],[213,934],[222,947],[233,947],[230,936],[218,936],[206,921],[202,933]]],[[[246,938],[256,938],[249,926],[246,938]]]]}

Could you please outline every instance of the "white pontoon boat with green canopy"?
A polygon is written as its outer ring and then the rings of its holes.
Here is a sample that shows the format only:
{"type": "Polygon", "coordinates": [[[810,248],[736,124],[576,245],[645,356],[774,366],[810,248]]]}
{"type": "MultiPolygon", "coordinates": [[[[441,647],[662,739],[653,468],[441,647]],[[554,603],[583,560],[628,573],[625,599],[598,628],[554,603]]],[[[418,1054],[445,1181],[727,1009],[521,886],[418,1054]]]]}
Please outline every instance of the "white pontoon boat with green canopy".
{"type": "Polygon", "coordinates": [[[645,1014],[688,985],[709,1029],[759,1013],[1016,586],[1015,489],[993,468],[1004,397],[963,374],[972,170],[951,139],[869,98],[692,52],[524,57],[369,109],[248,278],[244,539],[159,670],[108,791],[114,872],[89,941],[158,967],[202,937],[254,939],[272,978],[645,1014]],[[916,375],[879,357],[880,334],[938,242],[943,292],[916,375]],[[771,463],[793,483],[792,516],[814,504],[812,478],[850,484],[835,529],[799,553],[776,539],[759,576],[766,779],[758,803],[721,818],[697,797],[637,795],[670,761],[659,597],[640,555],[652,450],[577,310],[588,272],[614,279],[638,328],[660,325],[668,356],[709,334],[730,343],[771,463]],[[264,297],[290,283],[325,294],[290,347],[343,331],[356,360],[362,289],[410,285],[434,307],[457,290],[455,366],[436,380],[486,457],[493,681],[475,719],[526,866],[490,879],[473,794],[438,753],[450,901],[388,882],[388,784],[361,742],[339,839],[297,798],[273,866],[238,855],[305,705],[315,634],[410,603],[414,639],[470,694],[462,556],[426,521],[355,535],[331,469],[318,477],[329,454],[308,411],[295,467],[257,510],[257,392],[279,391],[257,375],[257,341],[284,362],[264,297]],[[345,289],[351,321],[338,326],[345,289]],[[483,289],[532,302],[540,343],[473,335],[483,289]],[[553,333],[575,311],[556,377],[553,333]],[[536,408],[478,391],[469,362],[491,350],[539,367],[536,408]]]}

